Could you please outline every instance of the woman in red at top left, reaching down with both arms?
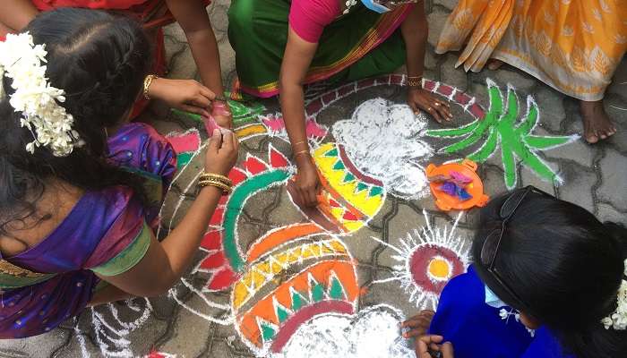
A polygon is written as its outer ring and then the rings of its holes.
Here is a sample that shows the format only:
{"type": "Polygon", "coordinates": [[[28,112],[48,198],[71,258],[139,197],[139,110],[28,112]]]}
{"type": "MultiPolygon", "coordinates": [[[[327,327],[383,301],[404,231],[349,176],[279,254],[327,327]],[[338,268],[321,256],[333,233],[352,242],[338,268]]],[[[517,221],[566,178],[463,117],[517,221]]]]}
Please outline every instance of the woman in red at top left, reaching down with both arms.
{"type": "MultiPolygon", "coordinates": [[[[60,7],[80,7],[124,13],[142,22],[154,47],[154,61],[150,70],[150,90],[145,98],[138,98],[133,117],[139,115],[148,99],[164,101],[169,107],[209,115],[207,108],[215,94],[226,106],[219,64],[219,51],[205,10],[209,0],[3,0],[0,2],[0,40],[6,33],[20,31],[38,13],[60,7]],[[158,76],[166,72],[163,26],[178,21],[192,50],[193,58],[204,85],[193,80],[170,80],[158,76]],[[151,80],[154,78],[154,80],[151,80]],[[206,86],[206,87],[205,87],[206,86]]],[[[148,82],[147,82],[148,83],[148,82]]],[[[215,100],[215,98],[213,98],[215,100]]],[[[218,124],[230,128],[228,111],[214,114],[218,124]]]]}

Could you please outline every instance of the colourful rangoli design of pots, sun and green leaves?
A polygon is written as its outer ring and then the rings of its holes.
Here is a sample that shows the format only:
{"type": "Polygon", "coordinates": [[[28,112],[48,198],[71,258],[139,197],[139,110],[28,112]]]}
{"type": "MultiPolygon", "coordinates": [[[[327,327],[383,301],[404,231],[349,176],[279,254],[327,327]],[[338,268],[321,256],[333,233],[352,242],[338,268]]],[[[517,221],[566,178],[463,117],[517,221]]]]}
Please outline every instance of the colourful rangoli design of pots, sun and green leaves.
{"type": "MultiPolygon", "coordinates": [[[[314,209],[300,206],[292,195],[296,167],[280,150],[287,141],[282,116],[267,113],[256,102],[229,102],[234,131],[243,146],[261,137],[262,153],[246,153],[229,173],[234,189],[220,200],[210,219],[200,248],[202,258],[168,297],[208,324],[232,329],[234,337],[229,342],[245,346],[258,357],[352,358],[365,352],[412,357],[413,350],[399,337],[399,322],[414,312],[401,312],[387,304],[363,305],[363,296],[397,283],[417,308],[434,308],[443,286],[468,266],[468,240],[458,233],[459,226],[466,224],[460,224],[459,215],[448,220],[451,225],[435,226],[426,210],[412,207],[417,216],[425,217],[426,225],[410,230],[407,237],[390,237],[388,214],[381,217],[382,209],[391,205],[395,211],[400,203],[426,198],[425,167],[435,156],[456,160],[459,157],[452,154],[460,154],[484,136],[485,143],[468,157],[485,161],[500,144],[508,187],[517,183],[515,158],[537,175],[557,181],[537,151],[566,144],[573,137],[531,134],[539,118],[536,103],[528,99],[528,113],[518,123],[515,92],[509,88],[507,99],[502,98],[492,81],[488,81],[491,104],[485,111],[463,91],[425,80],[426,89],[448,98],[471,118],[470,124],[456,129],[427,130],[431,122],[424,115],[414,115],[407,105],[384,98],[361,102],[348,118],[330,126],[318,123],[319,114],[344,98],[378,86],[403,86],[405,81],[401,75],[389,75],[307,97],[307,138],[322,184],[321,204],[314,209]],[[434,138],[461,140],[439,148],[434,138]],[[251,203],[269,192],[288,198],[273,205],[283,205],[291,218],[279,217],[251,238],[243,231],[243,224],[251,221],[251,203]],[[372,232],[371,239],[357,239],[361,230],[372,232]],[[387,274],[377,274],[370,281],[358,275],[360,262],[352,251],[360,240],[377,245],[376,251],[391,257],[394,265],[387,274]],[[185,298],[190,294],[195,304],[185,298]],[[337,333],[333,345],[328,344],[329,332],[337,333]]],[[[176,115],[202,128],[200,117],[176,115]]],[[[193,197],[202,167],[193,164],[202,158],[205,136],[197,129],[168,135],[178,152],[179,172],[172,183],[176,190],[167,198],[167,205],[174,209],[162,209],[158,237],[176,226],[193,197]]],[[[141,318],[131,323],[112,321],[99,313],[100,308],[92,310],[94,322],[100,322],[98,339],[114,342],[100,346],[103,355],[136,354],[127,336],[150,316],[150,301],[143,307],[138,311],[141,318]]],[[[170,355],[154,351],[149,356],[170,355]]]]}

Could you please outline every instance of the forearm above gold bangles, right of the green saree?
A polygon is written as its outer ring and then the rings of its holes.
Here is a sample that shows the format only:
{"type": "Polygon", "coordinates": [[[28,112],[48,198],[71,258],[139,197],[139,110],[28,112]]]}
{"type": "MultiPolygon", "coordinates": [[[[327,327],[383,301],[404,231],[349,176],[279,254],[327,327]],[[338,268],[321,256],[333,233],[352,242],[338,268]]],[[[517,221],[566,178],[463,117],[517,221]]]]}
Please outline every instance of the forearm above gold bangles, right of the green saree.
{"type": "Polygon", "coordinates": [[[400,25],[400,31],[405,40],[408,76],[422,76],[425,72],[426,40],[429,33],[422,2],[414,5],[411,13],[400,25]]]}

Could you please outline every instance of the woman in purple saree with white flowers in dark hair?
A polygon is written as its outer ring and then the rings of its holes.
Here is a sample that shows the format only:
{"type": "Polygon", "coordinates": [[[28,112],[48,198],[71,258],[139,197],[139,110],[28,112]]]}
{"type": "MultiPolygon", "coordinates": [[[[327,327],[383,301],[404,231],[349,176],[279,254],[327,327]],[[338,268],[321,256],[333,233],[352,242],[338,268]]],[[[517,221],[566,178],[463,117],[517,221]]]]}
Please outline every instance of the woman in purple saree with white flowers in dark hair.
{"type": "Polygon", "coordinates": [[[42,13],[0,43],[0,338],[162,294],[191,264],[238,144],[212,133],[196,199],[157,241],[176,153],[129,123],[149,68],[140,25],[101,11],[42,13]]]}

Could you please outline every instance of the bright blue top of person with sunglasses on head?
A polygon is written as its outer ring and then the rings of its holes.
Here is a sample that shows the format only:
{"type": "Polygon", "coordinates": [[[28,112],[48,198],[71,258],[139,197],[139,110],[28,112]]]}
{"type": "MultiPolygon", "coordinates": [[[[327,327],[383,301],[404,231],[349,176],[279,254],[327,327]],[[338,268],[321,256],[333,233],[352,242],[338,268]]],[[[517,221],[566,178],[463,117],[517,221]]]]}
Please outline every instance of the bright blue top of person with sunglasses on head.
{"type": "Polygon", "coordinates": [[[429,331],[451,342],[456,358],[574,358],[547,328],[529,331],[518,311],[485,304],[484,283],[472,266],[444,287],[429,331]]]}

